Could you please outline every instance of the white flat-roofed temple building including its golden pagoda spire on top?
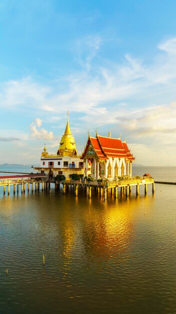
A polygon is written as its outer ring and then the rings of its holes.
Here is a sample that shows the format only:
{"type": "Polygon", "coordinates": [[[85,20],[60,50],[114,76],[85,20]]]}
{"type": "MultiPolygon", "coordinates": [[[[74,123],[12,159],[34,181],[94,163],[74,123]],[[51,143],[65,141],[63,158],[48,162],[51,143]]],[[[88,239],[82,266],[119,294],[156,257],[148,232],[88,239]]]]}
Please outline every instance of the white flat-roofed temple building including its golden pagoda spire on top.
{"type": "Polygon", "coordinates": [[[74,137],[69,127],[68,112],[65,131],[59,142],[57,152],[55,154],[48,153],[44,145],[43,152],[41,152],[40,167],[34,166],[33,169],[47,174],[50,179],[57,175],[64,175],[65,178],[69,178],[71,174],[83,176],[83,161],[77,154],[74,137]]]}

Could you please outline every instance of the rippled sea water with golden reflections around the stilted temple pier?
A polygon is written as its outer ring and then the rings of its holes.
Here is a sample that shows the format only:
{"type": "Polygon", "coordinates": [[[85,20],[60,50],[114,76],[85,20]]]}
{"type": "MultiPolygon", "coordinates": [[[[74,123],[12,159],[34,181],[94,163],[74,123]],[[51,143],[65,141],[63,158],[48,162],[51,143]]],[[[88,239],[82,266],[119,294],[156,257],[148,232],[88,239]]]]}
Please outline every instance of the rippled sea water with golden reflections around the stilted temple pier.
{"type": "MultiPolygon", "coordinates": [[[[145,172],[175,178],[133,168],[145,172]]],[[[176,186],[147,190],[103,202],[95,191],[0,188],[0,314],[176,313],[176,186]]]]}

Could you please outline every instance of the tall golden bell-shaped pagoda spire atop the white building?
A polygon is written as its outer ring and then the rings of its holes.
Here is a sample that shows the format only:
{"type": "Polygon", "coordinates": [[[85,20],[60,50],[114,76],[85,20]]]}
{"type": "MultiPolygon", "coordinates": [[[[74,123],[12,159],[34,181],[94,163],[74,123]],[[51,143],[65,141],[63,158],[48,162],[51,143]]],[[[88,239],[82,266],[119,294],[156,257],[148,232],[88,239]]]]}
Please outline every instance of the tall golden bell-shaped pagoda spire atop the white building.
{"type": "Polygon", "coordinates": [[[68,112],[67,112],[67,122],[66,122],[65,131],[61,137],[59,144],[60,145],[57,151],[58,155],[70,156],[70,157],[77,155],[74,137],[71,134],[70,127],[69,127],[68,112]]]}

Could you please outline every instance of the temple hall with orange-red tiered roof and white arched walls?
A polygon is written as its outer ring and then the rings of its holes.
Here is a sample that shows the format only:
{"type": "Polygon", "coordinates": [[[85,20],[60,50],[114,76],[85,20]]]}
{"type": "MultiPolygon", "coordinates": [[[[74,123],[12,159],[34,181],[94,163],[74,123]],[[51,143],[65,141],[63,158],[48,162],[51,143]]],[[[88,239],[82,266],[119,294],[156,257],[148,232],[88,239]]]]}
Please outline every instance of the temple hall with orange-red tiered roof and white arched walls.
{"type": "Polygon", "coordinates": [[[100,136],[88,133],[87,143],[82,153],[84,175],[94,179],[117,179],[122,176],[132,176],[132,161],[135,160],[126,141],[119,138],[100,136]]]}

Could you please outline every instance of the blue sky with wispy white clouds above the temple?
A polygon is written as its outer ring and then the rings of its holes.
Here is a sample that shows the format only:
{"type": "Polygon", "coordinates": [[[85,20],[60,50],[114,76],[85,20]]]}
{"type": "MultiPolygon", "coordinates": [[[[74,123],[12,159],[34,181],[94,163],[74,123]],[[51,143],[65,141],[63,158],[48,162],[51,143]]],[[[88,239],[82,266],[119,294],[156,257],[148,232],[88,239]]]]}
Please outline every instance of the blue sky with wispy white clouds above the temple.
{"type": "Polygon", "coordinates": [[[176,166],[175,0],[0,0],[0,164],[126,139],[135,164],[176,166]]]}

